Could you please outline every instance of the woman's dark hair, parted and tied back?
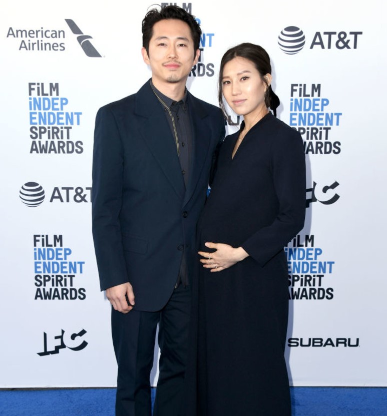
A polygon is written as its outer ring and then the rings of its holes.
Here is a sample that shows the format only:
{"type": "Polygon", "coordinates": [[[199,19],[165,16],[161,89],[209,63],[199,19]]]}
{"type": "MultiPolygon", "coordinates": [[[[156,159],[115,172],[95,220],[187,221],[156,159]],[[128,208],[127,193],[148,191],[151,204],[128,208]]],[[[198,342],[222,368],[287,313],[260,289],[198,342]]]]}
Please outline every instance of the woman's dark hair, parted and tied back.
{"type": "Polygon", "coordinates": [[[268,87],[265,93],[265,104],[266,107],[270,107],[273,110],[274,116],[276,116],[276,109],[279,106],[279,98],[274,94],[274,91],[271,88],[271,85],[268,85],[268,81],[264,77],[266,74],[271,74],[271,65],[270,57],[268,53],[259,45],[254,45],[250,43],[243,43],[233,48],[229,49],[224,55],[220,62],[219,70],[219,86],[218,86],[218,99],[219,106],[222,109],[226,118],[228,117],[223,103],[223,93],[222,93],[222,78],[224,66],[233,60],[236,57],[248,59],[252,62],[261,76],[261,80],[268,87]]]}

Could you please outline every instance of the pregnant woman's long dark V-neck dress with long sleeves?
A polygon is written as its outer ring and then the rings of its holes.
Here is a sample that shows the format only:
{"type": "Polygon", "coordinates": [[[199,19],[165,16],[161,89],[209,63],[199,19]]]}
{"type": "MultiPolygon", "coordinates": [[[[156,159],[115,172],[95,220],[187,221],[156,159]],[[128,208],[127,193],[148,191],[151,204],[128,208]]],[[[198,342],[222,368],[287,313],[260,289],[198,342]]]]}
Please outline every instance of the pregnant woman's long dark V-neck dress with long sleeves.
{"type": "Polygon", "coordinates": [[[304,223],[305,156],[300,135],[271,113],[232,159],[238,135],[221,147],[198,224],[199,249],[208,251],[205,242],[226,243],[250,257],[221,272],[200,266],[193,282],[188,414],[287,416],[283,247],[304,223]]]}

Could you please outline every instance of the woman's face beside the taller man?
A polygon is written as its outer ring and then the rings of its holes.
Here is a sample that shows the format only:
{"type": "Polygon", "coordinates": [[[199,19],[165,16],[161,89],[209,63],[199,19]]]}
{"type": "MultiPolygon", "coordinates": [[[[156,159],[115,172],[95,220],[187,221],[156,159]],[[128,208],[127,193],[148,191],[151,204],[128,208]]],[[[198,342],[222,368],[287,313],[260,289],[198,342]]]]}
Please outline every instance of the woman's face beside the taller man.
{"type": "MultiPolygon", "coordinates": [[[[270,74],[265,77],[270,83],[270,74]]],[[[240,116],[255,116],[266,109],[266,88],[255,65],[248,59],[233,58],[223,68],[223,96],[232,110],[240,116]]]]}

